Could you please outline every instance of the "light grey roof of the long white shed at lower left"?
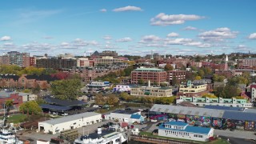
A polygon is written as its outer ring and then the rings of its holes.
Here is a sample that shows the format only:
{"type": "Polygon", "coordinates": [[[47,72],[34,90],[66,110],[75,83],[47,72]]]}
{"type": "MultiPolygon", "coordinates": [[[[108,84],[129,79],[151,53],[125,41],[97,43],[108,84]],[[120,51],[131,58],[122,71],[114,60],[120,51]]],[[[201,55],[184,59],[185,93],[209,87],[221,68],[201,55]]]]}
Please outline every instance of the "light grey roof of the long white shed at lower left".
{"type": "MultiPolygon", "coordinates": [[[[86,113],[82,113],[82,114],[74,114],[74,115],[68,115],[68,116],[64,116],[62,118],[56,118],[56,119],[50,119],[47,121],[43,121],[44,123],[49,123],[51,125],[56,125],[59,123],[63,123],[63,122],[70,122],[70,121],[74,121],[80,118],[89,118],[95,115],[99,115],[98,113],[94,113],[94,112],[86,112],[86,113]]],[[[39,122],[40,123],[40,122],[39,122]]]]}

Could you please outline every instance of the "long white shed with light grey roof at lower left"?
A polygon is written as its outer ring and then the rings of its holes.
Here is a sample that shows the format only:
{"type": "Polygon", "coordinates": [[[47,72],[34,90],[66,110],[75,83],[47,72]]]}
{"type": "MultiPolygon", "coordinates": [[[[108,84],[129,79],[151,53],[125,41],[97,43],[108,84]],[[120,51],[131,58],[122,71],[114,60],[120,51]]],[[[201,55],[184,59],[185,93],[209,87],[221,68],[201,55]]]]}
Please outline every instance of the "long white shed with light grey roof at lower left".
{"type": "Polygon", "coordinates": [[[102,114],[87,112],[38,122],[38,130],[44,133],[56,134],[62,130],[71,130],[98,122],[102,122],[102,114]]]}

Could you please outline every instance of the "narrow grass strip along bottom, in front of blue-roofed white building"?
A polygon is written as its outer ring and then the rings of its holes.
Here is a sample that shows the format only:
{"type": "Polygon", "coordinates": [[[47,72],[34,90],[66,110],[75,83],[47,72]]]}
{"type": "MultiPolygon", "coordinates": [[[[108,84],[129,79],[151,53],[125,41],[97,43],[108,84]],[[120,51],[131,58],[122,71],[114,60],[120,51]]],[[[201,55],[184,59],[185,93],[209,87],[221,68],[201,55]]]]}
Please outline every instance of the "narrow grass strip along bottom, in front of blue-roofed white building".
{"type": "Polygon", "coordinates": [[[229,142],[226,142],[226,140],[218,138],[215,141],[212,142],[200,142],[200,141],[191,141],[188,139],[182,139],[182,138],[167,138],[167,137],[162,137],[162,136],[158,136],[158,135],[153,135],[149,132],[145,132],[145,131],[141,131],[140,135],[146,135],[148,137],[153,137],[153,138],[166,138],[166,139],[173,139],[173,140],[177,140],[177,141],[183,141],[183,142],[193,142],[193,143],[211,143],[211,144],[228,144],[229,142]]]}

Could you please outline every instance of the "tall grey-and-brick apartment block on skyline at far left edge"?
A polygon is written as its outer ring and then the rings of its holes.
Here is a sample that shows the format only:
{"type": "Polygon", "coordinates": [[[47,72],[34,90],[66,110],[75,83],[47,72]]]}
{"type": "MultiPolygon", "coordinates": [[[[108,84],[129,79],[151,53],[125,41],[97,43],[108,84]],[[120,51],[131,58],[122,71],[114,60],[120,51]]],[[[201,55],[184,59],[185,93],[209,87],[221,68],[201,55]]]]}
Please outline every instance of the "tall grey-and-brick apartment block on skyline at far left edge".
{"type": "Polygon", "coordinates": [[[17,65],[21,67],[30,66],[30,53],[10,51],[0,58],[2,65],[17,65]]]}

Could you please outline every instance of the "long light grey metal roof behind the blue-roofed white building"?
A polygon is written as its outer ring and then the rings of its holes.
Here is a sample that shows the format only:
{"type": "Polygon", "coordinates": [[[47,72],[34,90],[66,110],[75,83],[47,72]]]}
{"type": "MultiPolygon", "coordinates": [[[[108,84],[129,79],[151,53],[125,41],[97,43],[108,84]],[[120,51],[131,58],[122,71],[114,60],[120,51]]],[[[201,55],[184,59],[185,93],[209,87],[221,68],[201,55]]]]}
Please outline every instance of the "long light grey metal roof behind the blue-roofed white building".
{"type": "Polygon", "coordinates": [[[214,118],[222,118],[225,112],[225,110],[212,110],[212,109],[198,108],[198,107],[171,106],[171,105],[159,105],[159,104],[154,104],[154,106],[152,106],[150,111],[172,113],[172,114],[200,115],[200,116],[214,117],[214,118]]]}

